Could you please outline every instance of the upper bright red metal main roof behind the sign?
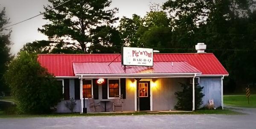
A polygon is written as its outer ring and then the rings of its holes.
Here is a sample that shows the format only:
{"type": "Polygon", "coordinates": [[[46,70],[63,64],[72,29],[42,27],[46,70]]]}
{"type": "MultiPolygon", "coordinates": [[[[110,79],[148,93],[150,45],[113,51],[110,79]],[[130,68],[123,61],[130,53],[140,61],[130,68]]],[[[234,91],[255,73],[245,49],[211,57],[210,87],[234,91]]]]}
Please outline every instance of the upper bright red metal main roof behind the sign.
{"type": "MultiPolygon", "coordinates": [[[[38,54],[38,62],[54,76],[75,76],[73,62],[119,62],[120,54],[38,54]],[[117,57],[117,58],[116,58],[117,57]]],[[[156,62],[187,62],[202,75],[228,75],[227,70],[221,65],[212,53],[154,53],[156,62]]],[[[112,65],[112,64],[111,64],[112,65]]],[[[100,69],[99,67],[93,67],[100,69]]]]}

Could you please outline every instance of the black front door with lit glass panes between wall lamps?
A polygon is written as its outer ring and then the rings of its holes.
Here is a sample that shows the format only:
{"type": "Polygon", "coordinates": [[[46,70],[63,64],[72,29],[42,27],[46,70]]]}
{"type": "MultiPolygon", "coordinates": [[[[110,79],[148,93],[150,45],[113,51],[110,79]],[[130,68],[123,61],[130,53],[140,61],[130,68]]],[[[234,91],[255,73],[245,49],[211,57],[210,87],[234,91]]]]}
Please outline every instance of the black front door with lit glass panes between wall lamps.
{"type": "Polygon", "coordinates": [[[140,81],[140,111],[150,110],[150,81],[140,81]]]}

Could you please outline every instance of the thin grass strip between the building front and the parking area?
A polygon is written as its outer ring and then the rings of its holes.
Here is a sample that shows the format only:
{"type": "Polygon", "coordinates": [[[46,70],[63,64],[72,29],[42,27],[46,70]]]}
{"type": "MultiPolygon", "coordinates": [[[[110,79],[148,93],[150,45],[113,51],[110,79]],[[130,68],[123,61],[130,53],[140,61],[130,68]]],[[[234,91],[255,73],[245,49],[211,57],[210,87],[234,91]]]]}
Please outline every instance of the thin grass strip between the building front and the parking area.
{"type": "Polygon", "coordinates": [[[130,113],[56,113],[47,115],[4,115],[1,114],[0,118],[34,118],[34,117],[86,117],[86,116],[116,116],[116,115],[200,115],[200,114],[219,114],[219,115],[242,115],[242,113],[234,112],[231,110],[197,110],[195,112],[130,112],[130,113]]]}

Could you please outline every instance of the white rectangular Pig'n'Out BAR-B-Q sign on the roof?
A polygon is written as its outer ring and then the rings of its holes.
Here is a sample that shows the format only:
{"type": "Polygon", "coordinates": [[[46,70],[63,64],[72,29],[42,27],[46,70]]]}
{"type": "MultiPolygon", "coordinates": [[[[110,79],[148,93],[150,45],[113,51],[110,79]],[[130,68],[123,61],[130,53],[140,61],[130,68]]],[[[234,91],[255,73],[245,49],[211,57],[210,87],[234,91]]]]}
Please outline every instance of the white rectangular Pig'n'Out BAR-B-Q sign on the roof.
{"type": "Polygon", "coordinates": [[[122,47],[122,65],[153,66],[153,49],[122,47]]]}

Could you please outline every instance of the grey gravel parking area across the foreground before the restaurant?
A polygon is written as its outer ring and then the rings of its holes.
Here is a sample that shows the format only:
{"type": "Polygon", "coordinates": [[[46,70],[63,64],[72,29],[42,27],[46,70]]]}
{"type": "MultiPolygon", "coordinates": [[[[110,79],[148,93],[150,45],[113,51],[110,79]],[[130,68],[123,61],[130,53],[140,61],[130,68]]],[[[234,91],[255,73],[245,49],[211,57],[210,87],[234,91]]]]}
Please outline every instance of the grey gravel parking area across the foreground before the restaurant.
{"type": "Polygon", "coordinates": [[[58,118],[0,118],[0,129],[255,129],[256,109],[247,115],[128,115],[58,118]]]}

